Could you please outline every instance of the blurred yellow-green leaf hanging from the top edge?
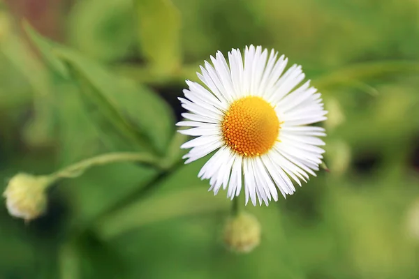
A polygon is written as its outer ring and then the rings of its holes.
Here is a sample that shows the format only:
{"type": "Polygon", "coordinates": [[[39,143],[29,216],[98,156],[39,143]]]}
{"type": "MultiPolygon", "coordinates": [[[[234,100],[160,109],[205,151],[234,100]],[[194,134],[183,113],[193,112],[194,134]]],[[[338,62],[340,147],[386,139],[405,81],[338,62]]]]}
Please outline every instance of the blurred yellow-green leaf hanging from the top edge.
{"type": "Polygon", "coordinates": [[[142,54],[160,73],[176,70],[181,61],[179,10],[170,0],[135,0],[142,54]]]}

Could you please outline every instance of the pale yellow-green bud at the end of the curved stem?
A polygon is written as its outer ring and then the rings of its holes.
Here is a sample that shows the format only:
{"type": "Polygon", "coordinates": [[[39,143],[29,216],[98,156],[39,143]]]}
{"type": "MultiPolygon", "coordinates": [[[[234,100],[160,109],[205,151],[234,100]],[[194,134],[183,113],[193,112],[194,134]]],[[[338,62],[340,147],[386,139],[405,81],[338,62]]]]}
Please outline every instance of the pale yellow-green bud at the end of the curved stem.
{"type": "Polygon", "coordinates": [[[16,174],[10,179],[3,197],[11,216],[32,220],[45,212],[47,195],[45,189],[50,186],[49,176],[16,174]]]}

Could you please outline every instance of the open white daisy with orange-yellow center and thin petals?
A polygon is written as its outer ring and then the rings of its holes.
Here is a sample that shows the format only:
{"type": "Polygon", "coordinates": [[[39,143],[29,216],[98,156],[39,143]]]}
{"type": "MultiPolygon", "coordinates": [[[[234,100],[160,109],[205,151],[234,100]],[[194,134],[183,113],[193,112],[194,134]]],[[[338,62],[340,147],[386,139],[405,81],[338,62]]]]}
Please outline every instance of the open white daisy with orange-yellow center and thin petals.
{"type": "Polygon", "coordinates": [[[186,81],[186,98],[179,98],[187,121],[179,130],[196,136],[181,147],[191,149],[184,158],[191,163],[207,154],[198,176],[210,179],[214,194],[222,187],[227,196],[240,195],[244,186],[249,198],[267,205],[295,192],[293,181],[301,186],[321,164],[325,136],[321,127],[308,126],[326,119],[321,93],[304,80],[301,66],[284,73],[288,59],[262,47],[246,47],[244,61],[240,50],[228,52],[228,63],[221,52],[212,65],[205,61],[199,79],[207,88],[186,81]],[[284,74],[283,74],[284,73],[284,74]],[[293,181],[292,181],[293,180],[293,181]]]}

